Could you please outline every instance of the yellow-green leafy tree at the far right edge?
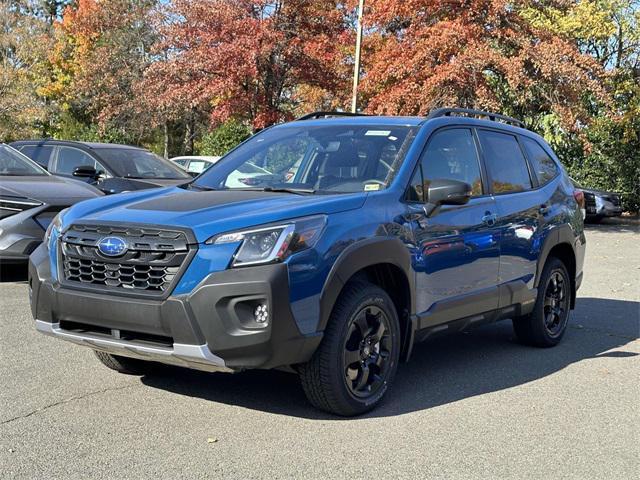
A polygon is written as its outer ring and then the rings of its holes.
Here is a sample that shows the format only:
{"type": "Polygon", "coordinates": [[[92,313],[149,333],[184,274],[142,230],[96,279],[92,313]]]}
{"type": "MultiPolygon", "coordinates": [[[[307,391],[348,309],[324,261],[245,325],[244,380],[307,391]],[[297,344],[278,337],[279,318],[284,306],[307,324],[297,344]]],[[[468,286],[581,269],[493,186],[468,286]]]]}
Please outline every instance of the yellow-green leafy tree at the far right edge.
{"type": "Polygon", "coordinates": [[[622,193],[624,208],[640,208],[640,1],[530,2],[531,24],[572,41],[607,72],[609,105],[584,101],[592,121],[579,134],[548,117],[541,131],[583,185],[622,193]]]}

